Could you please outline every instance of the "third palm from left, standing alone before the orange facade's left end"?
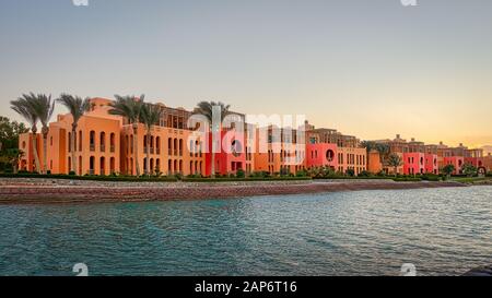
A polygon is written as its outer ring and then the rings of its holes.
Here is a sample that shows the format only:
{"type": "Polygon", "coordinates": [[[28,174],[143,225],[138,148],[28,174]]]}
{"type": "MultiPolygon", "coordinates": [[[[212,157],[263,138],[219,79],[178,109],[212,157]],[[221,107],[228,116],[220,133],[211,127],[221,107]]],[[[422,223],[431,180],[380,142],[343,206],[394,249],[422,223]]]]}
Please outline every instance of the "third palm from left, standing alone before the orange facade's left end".
{"type": "MultiPolygon", "coordinates": [[[[90,98],[82,99],[79,96],[72,96],[68,94],[61,94],[60,98],[57,99],[58,103],[63,105],[69,112],[72,115],[72,134],[70,136],[71,143],[71,155],[72,155],[72,171],[77,171],[77,157],[75,157],[75,138],[77,138],[77,128],[79,127],[79,120],[91,109],[91,100],[90,98]]],[[[79,141],[81,142],[81,140],[79,141]]]]}

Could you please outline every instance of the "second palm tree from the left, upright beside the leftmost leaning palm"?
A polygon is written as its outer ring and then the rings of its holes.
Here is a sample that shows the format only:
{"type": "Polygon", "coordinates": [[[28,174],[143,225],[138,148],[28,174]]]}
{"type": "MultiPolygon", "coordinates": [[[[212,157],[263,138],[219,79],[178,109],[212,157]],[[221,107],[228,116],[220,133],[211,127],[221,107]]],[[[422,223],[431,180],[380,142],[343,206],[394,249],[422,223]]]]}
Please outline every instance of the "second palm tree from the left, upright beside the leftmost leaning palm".
{"type": "Polygon", "coordinates": [[[48,172],[48,133],[49,133],[49,120],[51,119],[52,112],[55,110],[55,100],[51,100],[51,95],[31,94],[34,98],[33,108],[36,112],[39,121],[42,122],[42,134],[43,134],[43,174],[48,172]]]}

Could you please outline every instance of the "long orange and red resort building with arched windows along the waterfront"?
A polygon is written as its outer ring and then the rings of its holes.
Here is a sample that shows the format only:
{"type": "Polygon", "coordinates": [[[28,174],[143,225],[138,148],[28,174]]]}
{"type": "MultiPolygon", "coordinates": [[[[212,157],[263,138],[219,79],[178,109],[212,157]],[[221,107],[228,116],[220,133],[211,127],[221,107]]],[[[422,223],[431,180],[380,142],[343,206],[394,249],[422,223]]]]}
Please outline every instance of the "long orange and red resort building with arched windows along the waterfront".
{"type": "MultiPolygon", "coordinates": [[[[59,115],[49,124],[47,167],[51,174],[211,176],[213,140],[220,148],[213,153],[214,169],[221,176],[239,170],[295,175],[320,167],[343,175],[395,174],[394,167],[385,163],[389,154],[402,159],[396,172],[400,175],[440,174],[446,165],[454,165],[455,174],[461,174],[466,164],[483,171],[492,170],[490,154],[483,156],[483,150],[469,150],[462,144],[426,145],[415,139],[407,142],[398,134],[394,140],[373,141],[386,145],[388,152],[382,155],[376,150],[367,152],[358,138],[333,129],[317,129],[307,121],[296,129],[256,127],[245,123],[245,116],[238,112],[227,116],[216,138],[212,138],[207,130],[209,123],[190,121],[192,111],[163,104],[156,104],[162,109],[159,123],[147,131],[142,123],[132,126],[124,117],[110,115],[112,103],[106,98],[91,99],[91,110],[78,123],[74,144],[70,141],[71,115],[59,115]],[[72,168],[72,155],[75,168],[72,168]]],[[[36,139],[43,163],[43,138],[37,134],[36,139]]],[[[22,170],[37,170],[32,140],[31,133],[20,135],[19,145],[25,153],[20,160],[22,170]]]]}

